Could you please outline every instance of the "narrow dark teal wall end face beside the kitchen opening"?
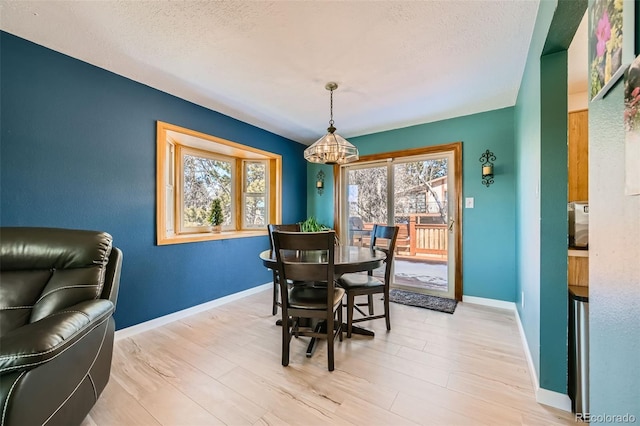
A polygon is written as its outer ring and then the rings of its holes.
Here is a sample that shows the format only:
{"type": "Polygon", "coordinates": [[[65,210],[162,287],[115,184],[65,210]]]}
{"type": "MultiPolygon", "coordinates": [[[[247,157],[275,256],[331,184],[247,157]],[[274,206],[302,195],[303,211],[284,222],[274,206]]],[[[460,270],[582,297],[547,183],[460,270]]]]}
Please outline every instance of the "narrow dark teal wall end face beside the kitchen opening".
{"type": "Polygon", "coordinates": [[[542,56],[540,387],[567,392],[567,51],[542,56]]]}

